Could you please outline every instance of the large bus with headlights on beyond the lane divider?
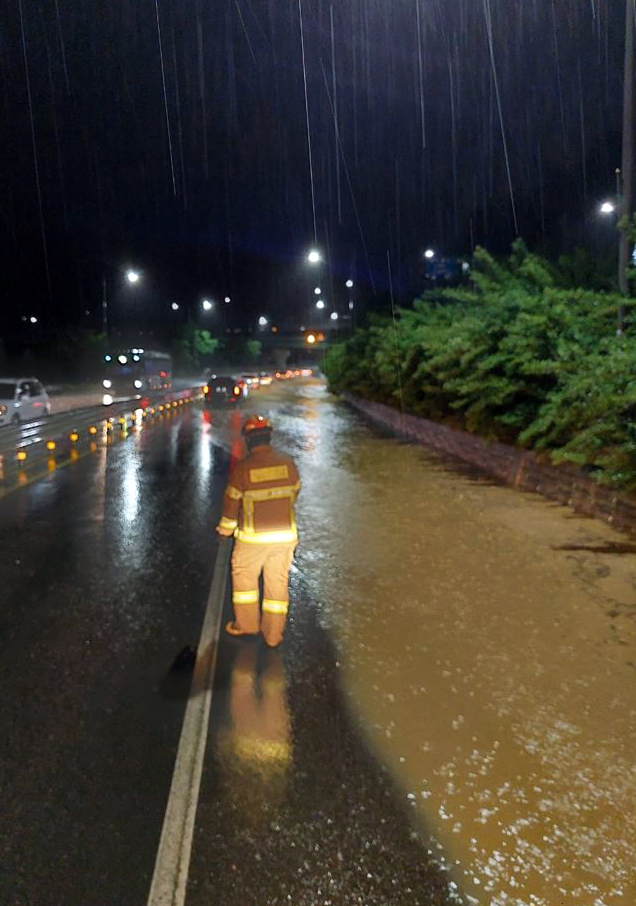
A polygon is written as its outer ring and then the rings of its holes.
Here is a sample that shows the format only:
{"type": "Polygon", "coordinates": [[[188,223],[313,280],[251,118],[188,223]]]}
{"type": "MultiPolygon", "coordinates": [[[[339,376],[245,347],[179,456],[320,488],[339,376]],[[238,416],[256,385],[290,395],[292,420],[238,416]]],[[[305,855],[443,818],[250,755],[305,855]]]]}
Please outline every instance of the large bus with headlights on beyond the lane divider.
{"type": "Polygon", "coordinates": [[[150,390],[172,387],[172,359],[164,352],[126,349],[104,356],[104,395],[109,406],[113,400],[141,396],[150,390]]]}

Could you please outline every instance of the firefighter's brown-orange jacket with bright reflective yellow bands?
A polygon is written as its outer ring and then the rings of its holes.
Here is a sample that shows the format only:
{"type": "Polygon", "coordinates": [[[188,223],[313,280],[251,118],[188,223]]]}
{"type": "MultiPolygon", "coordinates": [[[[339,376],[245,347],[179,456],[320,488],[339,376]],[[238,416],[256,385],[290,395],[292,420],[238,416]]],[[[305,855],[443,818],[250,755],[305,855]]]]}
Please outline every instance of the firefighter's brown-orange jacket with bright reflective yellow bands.
{"type": "Polygon", "coordinates": [[[300,491],[291,456],[261,445],[239,462],[223,498],[219,528],[247,544],[298,541],[294,504],[300,491]]]}

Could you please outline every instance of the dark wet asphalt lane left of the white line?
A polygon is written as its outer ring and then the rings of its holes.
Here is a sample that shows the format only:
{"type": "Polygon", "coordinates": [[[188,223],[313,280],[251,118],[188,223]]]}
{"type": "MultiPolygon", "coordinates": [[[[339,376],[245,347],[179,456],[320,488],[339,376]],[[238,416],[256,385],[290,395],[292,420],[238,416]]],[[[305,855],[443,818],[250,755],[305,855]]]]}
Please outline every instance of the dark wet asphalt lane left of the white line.
{"type": "Polygon", "coordinates": [[[0,500],[0,903],[145,902],[226,457],[171,417],[0,500]]]}

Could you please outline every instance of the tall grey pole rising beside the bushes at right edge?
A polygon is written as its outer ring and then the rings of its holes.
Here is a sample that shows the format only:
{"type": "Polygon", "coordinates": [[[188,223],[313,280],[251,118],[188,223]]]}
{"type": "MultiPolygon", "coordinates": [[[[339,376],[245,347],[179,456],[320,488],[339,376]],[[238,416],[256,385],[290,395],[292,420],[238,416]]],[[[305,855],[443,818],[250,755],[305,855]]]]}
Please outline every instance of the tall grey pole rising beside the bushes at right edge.
{"type": "MultiPolygon", "coordinates": [[[[634,195],[634,0],[625,0],[625,75],[623,82],[623,151],[621,172],[623,186],[620,205],[621,219],[630,218],[634,195]]],[[[627,265],[629,236],[621,231],[618,254],[618,287],[621,295],[629,292],[627,265]]],[[[618,307],[616,333],[623,332],[624,305],[618,307]]]]}

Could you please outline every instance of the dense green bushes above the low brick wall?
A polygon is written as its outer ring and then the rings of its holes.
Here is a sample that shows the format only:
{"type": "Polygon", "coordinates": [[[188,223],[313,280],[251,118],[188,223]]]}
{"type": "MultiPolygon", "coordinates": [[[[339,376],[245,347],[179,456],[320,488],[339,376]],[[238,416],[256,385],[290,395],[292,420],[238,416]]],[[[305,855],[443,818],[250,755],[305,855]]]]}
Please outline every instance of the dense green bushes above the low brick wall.
{"type": "Polygon", "coordinates": [[[483,249],[467,286],[374,315],[326,355],[349,391],[491,439],[544,451],[603,483],[636,488],[636,300],[573,285],[572,268],[522,242],[483,249]]]}

